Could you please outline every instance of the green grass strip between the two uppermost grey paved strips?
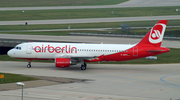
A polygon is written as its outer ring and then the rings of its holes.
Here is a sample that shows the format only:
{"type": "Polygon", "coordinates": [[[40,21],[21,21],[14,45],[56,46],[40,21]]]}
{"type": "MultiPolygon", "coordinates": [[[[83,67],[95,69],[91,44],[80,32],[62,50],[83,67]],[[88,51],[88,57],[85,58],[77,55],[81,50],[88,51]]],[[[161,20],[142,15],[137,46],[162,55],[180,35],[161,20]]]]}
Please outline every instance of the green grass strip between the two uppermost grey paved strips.
{"type": "Polygon", "coordinates": [[[176,9],[180,7],[0,11],[0,21],[179,15],[176,9]]]}

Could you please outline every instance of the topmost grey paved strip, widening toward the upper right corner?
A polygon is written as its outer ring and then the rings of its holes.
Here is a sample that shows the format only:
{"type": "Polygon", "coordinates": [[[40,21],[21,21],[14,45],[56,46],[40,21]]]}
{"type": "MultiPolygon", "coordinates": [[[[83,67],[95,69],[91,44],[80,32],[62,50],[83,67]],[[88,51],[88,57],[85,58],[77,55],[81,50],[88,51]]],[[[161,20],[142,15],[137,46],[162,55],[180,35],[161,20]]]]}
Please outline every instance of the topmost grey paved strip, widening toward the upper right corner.
{"type": "Polygon", "coordinates": [[[97,8],[125,8],[125,7],[161,7],[180,6],[180,0],[130,0],[117,5],[98,6],[55,6],[55,7],[3,7],[0,11],[7,10],[52,10],[52,9],[97,9],[97,8]]]}

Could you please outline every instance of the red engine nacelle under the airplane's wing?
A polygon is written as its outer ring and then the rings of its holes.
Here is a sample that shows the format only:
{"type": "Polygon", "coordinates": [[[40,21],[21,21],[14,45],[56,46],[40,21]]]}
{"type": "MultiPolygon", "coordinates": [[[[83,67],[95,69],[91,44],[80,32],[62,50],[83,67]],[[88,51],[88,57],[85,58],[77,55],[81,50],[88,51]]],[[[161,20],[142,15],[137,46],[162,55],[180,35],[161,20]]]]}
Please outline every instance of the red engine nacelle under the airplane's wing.
{"type": "Polygon", "coordinates": [[[56,67],[66,68],[70,66],[71,61],[70,59],[67,58],[56,58],[55,63],[56,63],[56,67]]]}

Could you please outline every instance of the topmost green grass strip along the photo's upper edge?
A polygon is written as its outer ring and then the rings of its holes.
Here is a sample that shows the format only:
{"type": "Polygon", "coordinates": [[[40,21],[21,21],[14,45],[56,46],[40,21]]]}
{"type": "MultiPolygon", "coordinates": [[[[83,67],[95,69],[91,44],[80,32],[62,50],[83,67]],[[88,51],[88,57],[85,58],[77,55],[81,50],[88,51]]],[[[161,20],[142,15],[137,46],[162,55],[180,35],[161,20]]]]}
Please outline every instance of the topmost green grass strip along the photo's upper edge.
{"type": "Polygon", "coordinates": [[[113,5],[129,0],[1,0],[0,7],[113,5]]]}

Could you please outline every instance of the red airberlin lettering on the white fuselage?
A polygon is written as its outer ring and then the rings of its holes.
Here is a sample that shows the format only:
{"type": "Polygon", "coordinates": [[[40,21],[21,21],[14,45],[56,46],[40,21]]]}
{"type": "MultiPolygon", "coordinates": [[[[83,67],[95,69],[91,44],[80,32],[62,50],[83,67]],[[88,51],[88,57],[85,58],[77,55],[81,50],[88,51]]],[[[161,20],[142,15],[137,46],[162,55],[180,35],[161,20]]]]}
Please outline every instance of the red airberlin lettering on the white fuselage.
{"type": "Polygon", "coordinates": [[[41,52],[49,52],[49,53],[77,53],[77,48],[76,47],[71,47],[71,45],[65,45],[64,47],[59,47],[59,46],[35,46],[34,51],[37,53],[41,52]]]}

